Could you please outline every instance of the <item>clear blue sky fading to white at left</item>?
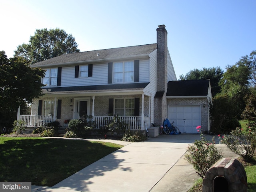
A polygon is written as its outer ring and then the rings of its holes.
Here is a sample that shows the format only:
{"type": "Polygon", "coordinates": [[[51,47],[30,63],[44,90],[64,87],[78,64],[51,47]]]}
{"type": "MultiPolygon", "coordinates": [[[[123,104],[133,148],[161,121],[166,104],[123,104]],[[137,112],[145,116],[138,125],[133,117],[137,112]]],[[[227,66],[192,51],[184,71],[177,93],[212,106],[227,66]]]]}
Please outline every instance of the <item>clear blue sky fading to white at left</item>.
{"type": "Polygon", "coordinates": [[[255,10],[256,0],[0,0],[0,50],[12,57],[42,28],[72,34],[80,51],[151,44],[165,24],[178,79],[256,50],[255,10]]]}

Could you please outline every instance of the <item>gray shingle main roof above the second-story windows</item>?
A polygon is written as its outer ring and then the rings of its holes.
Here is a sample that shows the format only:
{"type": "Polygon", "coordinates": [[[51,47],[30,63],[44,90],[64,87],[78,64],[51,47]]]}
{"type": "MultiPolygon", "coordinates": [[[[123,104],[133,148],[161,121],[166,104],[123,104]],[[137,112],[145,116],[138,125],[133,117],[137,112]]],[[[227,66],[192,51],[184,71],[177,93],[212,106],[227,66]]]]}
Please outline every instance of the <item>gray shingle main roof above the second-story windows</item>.
{"type": "Polygon", "coordinates": [[[58,57],[50,58],[48,60],[38,62],[31,66],[36,67],[36,66],[43,66],[48,64],[64,64],[64,63],[71,63],[71,62],[82,62],[82,61],[90,61],[90,60],[102,60],[102,59],[129,57],[129,56],[138,56],[143,54],[150,54],[154,50],[156,50],[156,44],[77,52],[77,53],[64,54],[58,57]]]}

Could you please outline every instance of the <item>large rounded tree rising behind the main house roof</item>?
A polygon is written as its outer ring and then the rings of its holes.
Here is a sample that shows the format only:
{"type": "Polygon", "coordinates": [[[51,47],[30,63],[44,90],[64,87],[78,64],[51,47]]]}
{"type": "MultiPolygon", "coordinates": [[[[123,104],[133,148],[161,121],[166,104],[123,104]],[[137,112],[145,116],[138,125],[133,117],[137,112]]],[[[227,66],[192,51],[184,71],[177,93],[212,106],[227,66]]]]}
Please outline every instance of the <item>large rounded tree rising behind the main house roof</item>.
{"type": "Polygon", "coordinates": [[[30,37],[29,44],[19,45],[14,56],[23,57],[34,64],[63,54],[79,52],[77,47],[75,38],[62,29],[37,29],[35,35],[30,37]]]}

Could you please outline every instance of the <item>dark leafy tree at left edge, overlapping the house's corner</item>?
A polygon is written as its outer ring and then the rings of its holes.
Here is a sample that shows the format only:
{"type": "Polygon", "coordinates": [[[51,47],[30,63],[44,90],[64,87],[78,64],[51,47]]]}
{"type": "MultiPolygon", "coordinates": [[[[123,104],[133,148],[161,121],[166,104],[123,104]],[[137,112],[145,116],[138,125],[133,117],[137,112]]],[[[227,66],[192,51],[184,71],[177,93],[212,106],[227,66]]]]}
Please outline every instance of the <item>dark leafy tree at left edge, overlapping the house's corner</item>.
{"type": "Polygon", "coordinates": [[[0,52],[0,128],[12,127],[18,106],[42,96],[41,77],[44,70],[30,68],[24,58],[8,59],[4,51],[0,52]]]}

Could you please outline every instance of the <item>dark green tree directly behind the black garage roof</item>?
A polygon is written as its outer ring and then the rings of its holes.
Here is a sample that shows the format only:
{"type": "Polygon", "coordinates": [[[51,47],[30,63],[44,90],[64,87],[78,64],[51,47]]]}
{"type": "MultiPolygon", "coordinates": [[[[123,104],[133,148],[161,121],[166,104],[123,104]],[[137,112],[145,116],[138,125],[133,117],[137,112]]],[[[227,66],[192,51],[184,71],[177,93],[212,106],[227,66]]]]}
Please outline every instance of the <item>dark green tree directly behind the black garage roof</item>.
{"type": "Polygon", "coordinates": [[[215,96],[220,92],[218,83],[222,75],[223,70],[220,67],[203,68],[202,70],[194,69],[190,70],[185,76],[180,75],[180,80],[210,79],[212,96],[215,96]]]}

